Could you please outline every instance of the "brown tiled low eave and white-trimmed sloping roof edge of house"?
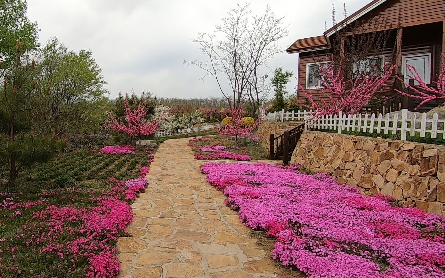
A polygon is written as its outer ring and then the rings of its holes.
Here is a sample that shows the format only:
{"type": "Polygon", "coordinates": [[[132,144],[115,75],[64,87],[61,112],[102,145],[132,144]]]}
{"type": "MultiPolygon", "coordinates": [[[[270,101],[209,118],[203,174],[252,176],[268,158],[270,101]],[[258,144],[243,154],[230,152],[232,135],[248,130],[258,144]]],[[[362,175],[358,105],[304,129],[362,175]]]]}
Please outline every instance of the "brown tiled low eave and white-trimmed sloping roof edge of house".
{"type": "Polygon", "coordinates": [[[370,12],[380,4],[383,4],[387,0],[372,0],[370,3],[368,3],[366,6],[358,10],[357,12],[354,12],[352,15],[348,16],[344,20],[340,21],[338,24],[332,26],[332,28],[329,28],[326,32],[324,32],[323,36],[314,36],[310,38],[305,39],[299,39],[295,41],[291,46],[289,46],[286,49],[287,53],[297,53],[297,52],[307,52],[309,50],[321,50],[321,49],[328,49],[329,48],[329,41],[328,37],[335,34],[335,32],[341,30],[348,24],[352,23],[353,21],[359,19],[361,16],[366,14],[367,12],[370,12]]]}

